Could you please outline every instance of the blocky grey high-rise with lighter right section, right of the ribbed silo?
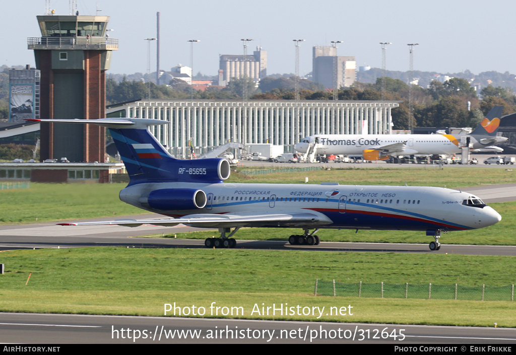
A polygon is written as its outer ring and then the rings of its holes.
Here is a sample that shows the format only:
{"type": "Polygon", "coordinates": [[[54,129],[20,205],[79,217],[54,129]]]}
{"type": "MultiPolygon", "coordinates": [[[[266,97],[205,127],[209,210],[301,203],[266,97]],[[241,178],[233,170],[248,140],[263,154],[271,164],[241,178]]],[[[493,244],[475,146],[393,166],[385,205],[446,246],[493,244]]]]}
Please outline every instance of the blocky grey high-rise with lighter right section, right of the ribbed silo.
{"type": "Polygon", "coordinates": [[[339,89],[350,87],[354,83],[357,69],[355,57],[336,56],[333,46],[314,46],[312,58],[312,76],[314,82],[321,83],[328,89],[334,87],[334,66],[336,64],[336,82],[339,89]],[[336,63],[334,62],[336,60],[336,63]]]}

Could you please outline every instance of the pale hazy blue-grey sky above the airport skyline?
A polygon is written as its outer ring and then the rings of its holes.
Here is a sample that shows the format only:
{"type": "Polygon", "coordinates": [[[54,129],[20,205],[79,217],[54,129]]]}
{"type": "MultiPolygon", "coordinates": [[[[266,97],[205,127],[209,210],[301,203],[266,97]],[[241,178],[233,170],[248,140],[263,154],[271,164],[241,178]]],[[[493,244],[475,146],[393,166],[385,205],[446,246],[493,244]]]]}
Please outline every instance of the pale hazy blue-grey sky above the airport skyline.
{"type": "MultiPolygon", "coordinates": [[[[37,15],[45,4],[56,14],[70,14],[71,0],[0,0],[3,34],[0,65],[35,65],[27,38],[39,37],[37,15]]],[[[156,12],[160,12],[160,69],[178,63],[193,71],[216,75],[219,54],[243,54],[241,38],[252,38],[248,53],[257,45],[267,51],[267,73],[294,73],[293,39],[300,47],[300,74],[312,71],[312,47],[343,41],[338,55],[355,56],[358,66],[381,67],[381,45],[388,70],[409,69],[407,43],[419,43],[414,70],[442,73],[466,69],[516,73],[514,1],[458,0],[78,0],[81,15],[110,16],[111,38],[119,39],[112,56],[111,73],[144,73],[148,43],[156,37],[156,12]]],[[[156,43],[151,43],[151,71],[156,69],[156,43]]]]}

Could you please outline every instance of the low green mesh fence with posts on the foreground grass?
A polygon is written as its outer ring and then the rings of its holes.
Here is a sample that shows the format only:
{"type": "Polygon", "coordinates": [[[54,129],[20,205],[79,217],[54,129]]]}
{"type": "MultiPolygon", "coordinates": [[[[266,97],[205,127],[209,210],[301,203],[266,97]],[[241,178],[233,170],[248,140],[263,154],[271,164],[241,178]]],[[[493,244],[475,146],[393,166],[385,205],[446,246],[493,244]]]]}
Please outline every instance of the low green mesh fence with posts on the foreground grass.
{"type": "Polygon", "coordinates": [[[419,298],[455,299],[469,301],[514,301],[514,285],[462,286],[393,284],[393,283],[342,283],[315,280],[315,296],[367,297],[367,298],[419,298]]]}

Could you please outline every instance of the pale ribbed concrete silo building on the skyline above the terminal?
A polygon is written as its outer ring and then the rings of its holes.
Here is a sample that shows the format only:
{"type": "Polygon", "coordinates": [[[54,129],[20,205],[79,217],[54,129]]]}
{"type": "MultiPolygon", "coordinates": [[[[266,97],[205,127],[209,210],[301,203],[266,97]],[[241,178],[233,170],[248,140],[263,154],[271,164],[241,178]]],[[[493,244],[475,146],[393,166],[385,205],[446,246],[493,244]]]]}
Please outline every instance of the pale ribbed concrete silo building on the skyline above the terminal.
{"type": "Polygon", "coordinates": [[[267,76],[267,52],[256,47],[252,55],[220,55],[219,85],[226,86],[232,78],[249,77],[259,80],[267,76]]]}

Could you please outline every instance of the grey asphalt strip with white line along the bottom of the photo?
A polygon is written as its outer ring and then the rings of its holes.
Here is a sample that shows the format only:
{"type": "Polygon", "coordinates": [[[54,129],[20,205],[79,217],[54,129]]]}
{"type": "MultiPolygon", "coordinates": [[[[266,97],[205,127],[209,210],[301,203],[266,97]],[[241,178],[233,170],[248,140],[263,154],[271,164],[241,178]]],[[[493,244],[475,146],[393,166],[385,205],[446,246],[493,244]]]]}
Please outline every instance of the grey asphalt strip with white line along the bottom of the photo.
{"type": "Polygon", "coordinates": [[[388,344],[382,348],[385,350],[394,350],[395,345],[448,344],[457,346],[455,351],[459,352],[461,346],[470,351],[470,344],[516,344],[516,329],[0,313],[0,343],[28,341],[33,344],[388,344]]]}

